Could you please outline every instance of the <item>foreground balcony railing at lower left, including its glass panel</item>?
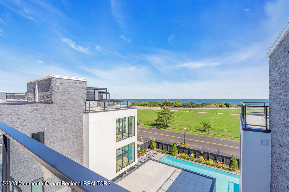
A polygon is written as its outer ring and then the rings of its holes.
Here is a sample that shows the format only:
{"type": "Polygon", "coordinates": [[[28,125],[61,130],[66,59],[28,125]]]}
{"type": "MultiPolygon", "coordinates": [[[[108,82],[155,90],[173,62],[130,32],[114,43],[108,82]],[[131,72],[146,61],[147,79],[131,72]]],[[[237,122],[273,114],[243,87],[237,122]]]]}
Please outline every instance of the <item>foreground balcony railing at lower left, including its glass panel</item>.
{"type": "Polygon", "coordinates": [[[127,191],[1,121],[0,142],[0,191],[127,191]]]}

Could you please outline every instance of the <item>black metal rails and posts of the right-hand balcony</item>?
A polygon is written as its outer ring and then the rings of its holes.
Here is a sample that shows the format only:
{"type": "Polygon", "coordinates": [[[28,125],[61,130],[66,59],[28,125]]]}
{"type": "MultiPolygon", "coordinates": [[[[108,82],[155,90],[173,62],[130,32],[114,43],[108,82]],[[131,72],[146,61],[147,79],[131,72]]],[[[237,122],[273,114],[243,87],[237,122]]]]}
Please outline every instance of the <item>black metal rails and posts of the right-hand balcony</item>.
{"type": "Polygon", "coordinates": [[[264,127],[265,129],[268,129],[269,106],[267,104],[269,104],[269,103],[268,102],[241,102],[241,117],[242,117],[242,121],[244,123],[245,128],[247,126],[257,126],[257,127],[264,127]],[[248,115],[264,116],[264,118],[265,118],[264,124],[263,125],[249,124],[248,123],[248,115]]]}

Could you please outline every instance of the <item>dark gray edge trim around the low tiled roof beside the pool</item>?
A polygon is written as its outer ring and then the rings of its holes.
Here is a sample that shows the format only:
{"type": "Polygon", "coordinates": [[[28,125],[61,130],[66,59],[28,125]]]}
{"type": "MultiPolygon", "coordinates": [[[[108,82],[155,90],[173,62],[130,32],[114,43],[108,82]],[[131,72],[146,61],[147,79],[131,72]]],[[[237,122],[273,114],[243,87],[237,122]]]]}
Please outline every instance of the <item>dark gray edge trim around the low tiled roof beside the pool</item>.
{"type": "MultiPolygon", "coordinates": [[[[208,175],[203,175],[201,173],[197,173],[197,172],[194,172],[194,171],[191,171],[191,170],[187,170],[187,169],[184,169],[184,168],[181,168],[181,167],[178,167],[178,166],[174,166],[174,165],[171,165],[171,164],[167,164],[167,163],[164,163],[162,161],[158,161],[158,160],[155,160],[155,159],[147,159],[145,160],[142,164],[140,164],[139,166],[137,166],[136,168],[134,168],[133,170],[131,170],[130,172],[128,172],[127,174],[125,174],[124,176],[122,176],[121,178],[119,178],[118,180],[116,180],[114,183],[118,183],[120,180],[122,180],[123,178],[125,178],[126,176],[128,176],[129,174],[131,174],[132,172],[134,172],[136,169],[140,168],[142,165],[144,165],[145,163],[147,163],[148,161],[156,161],[158,163],[161,163],[161,164],[164,164],[164,165],[167,165],[167,166],[171,166],[171,167],[174,167],[174,168],[177,168],[177,169],[181,169],[183,171],[187,171],[187,172],[190,172],[190,173],[193,173],[193,174],[196,174],[196,175],[199,175],[199,176],[203,176],[203,177],[206,177],[206,178],[209,178],[209,179],[212,179],[212,185],[211,185],[211,188],[210,188],[210,192],[214,191],[214,187],[216,185],[216,178],[214,177],[211,177],[211,176],[208,176],[208,175]]],[[[181,160],[181,159],[180,159],[181,160]]]]}

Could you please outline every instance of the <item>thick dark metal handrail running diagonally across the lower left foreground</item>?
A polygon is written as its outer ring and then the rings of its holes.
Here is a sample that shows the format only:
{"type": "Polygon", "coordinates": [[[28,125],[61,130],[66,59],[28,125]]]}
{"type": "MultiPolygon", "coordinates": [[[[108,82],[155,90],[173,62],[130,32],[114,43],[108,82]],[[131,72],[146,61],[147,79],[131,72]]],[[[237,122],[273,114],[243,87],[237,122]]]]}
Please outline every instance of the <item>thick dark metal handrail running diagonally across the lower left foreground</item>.
{"type": "MultiPolygon", "coordinates": [[[[84,185],[83,181],[106,181],[110,180],[65,157],[53,149],[43,145],[22,132],[0,121],[2,136],[2,181],[9,181],[8,165],[10,163],[9,140],[15,143],[23,151],[38,161],[42,166],[64,182],[81,182],[82,185],[70,186],[75,191],[127,191],[123,187],[110,182],[110,185],[84,185]]],[[[2,185],[2,191],[7,191],[2,185]]]]}

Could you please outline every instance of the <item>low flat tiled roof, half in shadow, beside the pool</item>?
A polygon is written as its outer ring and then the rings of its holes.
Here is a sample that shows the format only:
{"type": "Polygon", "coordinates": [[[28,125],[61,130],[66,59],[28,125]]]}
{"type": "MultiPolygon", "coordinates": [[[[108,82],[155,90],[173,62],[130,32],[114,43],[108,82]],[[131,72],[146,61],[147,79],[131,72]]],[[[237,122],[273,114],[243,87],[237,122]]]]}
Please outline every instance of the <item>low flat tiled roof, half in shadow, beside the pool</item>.
{"type": "Polygon", "coordinates": [[[214,190],[216,178],[148,159],[115,181],[129,191],[214,190]]]}

